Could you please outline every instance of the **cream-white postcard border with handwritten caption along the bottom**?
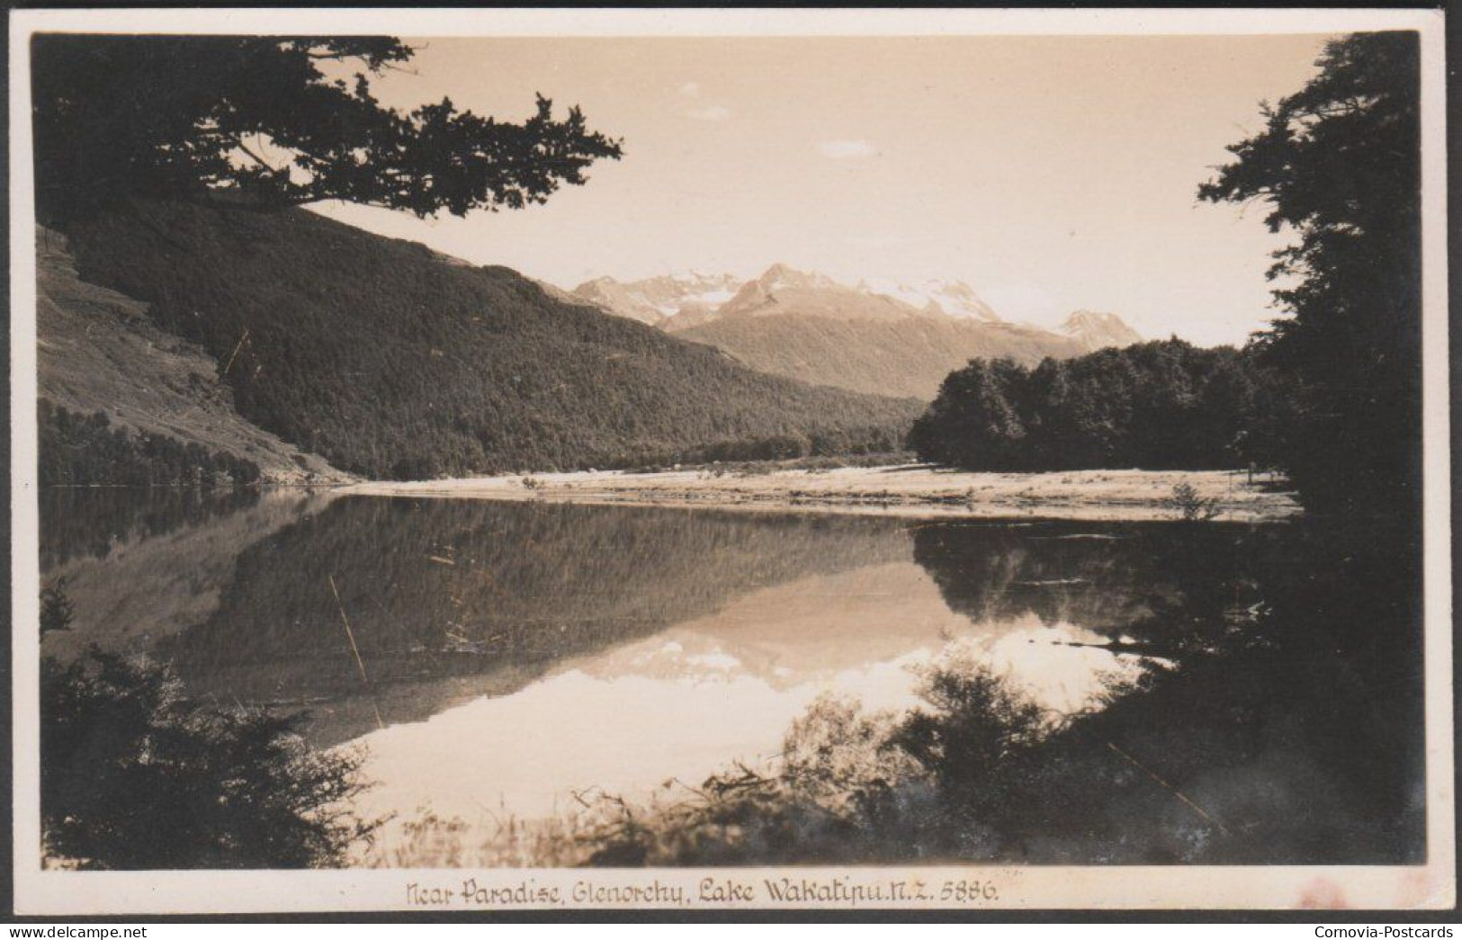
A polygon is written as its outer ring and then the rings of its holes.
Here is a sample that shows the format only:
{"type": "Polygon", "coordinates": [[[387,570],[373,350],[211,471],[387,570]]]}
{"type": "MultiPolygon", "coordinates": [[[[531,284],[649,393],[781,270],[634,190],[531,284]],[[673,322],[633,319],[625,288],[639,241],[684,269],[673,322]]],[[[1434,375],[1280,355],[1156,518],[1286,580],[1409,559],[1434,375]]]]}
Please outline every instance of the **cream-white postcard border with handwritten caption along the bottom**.
{"type": "MultiPolygon", "coordinates": [[[[10,471],[13,871],[18,914],[222,914],[306,911],[525,909],[1443,909],[1456,903],[1452,753],[1452,560],[1446,254],[1444,31],[1439,10],[12,10],[10,12],[10,471]],[[1177,35],[1342,34],[1417,29],[1423,66],[1424,572],[1427,845],[1424,865],[1064,867],[677,870],[338,870],[42,871],[39,839],[39,620],[35,463],[35,227],[31,165],[29,35],[35,31],[341,34],[404,37],[645,35],[1177,35]],[[768,882],[807,884],[811,898],[776,901],[768,882]],[[465,883],[503,903],[461,898],[465,883]],[[751,899],[721,890],[751,886],[751,899]],[[921,883],[933,901],[911,893],[921,883]],[[940,899],[943,884],[980,883],[972,899],[940,899]],[[408,886],[450,889],[444,905],[414,903],[408,886]],[[893,884],[904,884],[899,899],[893,884]],[[588,887],[585,887],[588,886],[588,887]],[[683,902],[614,901],[633,887],[683,889],[683,902]],[[882,899],[871,899],[882,887],[882,899]],[[557,895],[554,895],[557,892],[557,895]],[[577,892],[577,893],[576,893],[577,892]],[[861,892],[861,893],[860,893],[861,892]],[[994,896],[988,896],[993,893],[994,896]],[[522,901],[515,901],[522,898],[522,901]],[[550,901],[556,898],[556,901],[550,901]],[[577,898],[577,899],[576,899],[577,898]],[[864,898],[860,901],[858,898],[864,898]]],[[[965,892],[969,895],[969,892],[965,892]]],[[[430,896],[430,895],[427,895],[430,896]]],[[[661,898],[659,893],[649,895],[661,898]]]]}

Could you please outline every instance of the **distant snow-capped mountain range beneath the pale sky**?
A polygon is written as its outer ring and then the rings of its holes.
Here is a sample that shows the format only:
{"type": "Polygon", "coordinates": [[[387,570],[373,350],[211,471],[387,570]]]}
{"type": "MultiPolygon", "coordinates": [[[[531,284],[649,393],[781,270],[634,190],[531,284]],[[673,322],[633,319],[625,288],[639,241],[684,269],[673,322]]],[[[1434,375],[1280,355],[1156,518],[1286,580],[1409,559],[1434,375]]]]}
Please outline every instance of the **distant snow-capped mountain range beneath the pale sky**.
{"type": "Polygon", "coordinates": [[[715,346],[757,371],[924,401],[972,358],[1034,365],[1142,341],[1114,313],[1080,310],[1048,330],[1001,320],[962,281],[864,279],[849,287],[781,263],[740,284],[705,273],[598,278],[572,297],[715,346]]]}

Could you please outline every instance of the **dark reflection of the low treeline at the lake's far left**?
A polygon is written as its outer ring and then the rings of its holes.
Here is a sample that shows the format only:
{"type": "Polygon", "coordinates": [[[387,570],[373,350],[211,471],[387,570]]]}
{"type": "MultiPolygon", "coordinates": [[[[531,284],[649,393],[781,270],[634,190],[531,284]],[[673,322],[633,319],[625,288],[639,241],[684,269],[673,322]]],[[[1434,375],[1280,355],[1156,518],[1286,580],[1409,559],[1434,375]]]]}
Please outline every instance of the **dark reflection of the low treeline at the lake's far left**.
{"type": "Polygon", "coordinates": [[[259,490],[246,487],[48,487],[41,491],[41,570],[105,558],[117,542],[205,525],[257,501],[259,490]]]}

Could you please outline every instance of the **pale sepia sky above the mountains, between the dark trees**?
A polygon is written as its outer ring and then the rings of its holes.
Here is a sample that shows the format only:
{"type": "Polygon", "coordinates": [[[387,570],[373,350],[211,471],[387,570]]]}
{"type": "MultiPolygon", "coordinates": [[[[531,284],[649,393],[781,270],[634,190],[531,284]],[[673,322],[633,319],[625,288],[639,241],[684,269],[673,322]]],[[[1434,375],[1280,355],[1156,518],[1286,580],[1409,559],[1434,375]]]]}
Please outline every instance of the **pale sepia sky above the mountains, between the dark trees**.
{"type": "Polygon", "coordinates": [[[1197,203],[1325,37],[412,39],[385,104],[522,120],[534,92],[621,137],[583,187],[465,219],[326,215],[564,288],[773,262],[959,279],[1007,320],[1118,313],[1241,342],[1275,316],[1262,206],[1197,203]]]}

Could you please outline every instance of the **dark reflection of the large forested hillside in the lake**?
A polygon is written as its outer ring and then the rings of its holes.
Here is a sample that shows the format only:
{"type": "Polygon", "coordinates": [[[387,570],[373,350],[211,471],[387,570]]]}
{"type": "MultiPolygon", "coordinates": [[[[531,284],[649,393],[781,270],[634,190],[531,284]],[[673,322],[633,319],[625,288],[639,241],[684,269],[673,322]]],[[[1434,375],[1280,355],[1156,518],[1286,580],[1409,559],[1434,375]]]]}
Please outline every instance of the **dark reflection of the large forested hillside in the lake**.
{"type": "MultiPolygon", "coordinates": [[[[167,646],[197,694],[308,703],[548,664],[810,575],[908,560],[893,520],[342,499],[246,550],[208,623],[167,646]],[[339,602],[332,592],[332,579],[339,602]]],[[[399,703],[424,718],[440,702],[399,703]]],[[[364,731],[361,728],[360,731],[364,731]]]]}

